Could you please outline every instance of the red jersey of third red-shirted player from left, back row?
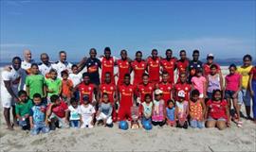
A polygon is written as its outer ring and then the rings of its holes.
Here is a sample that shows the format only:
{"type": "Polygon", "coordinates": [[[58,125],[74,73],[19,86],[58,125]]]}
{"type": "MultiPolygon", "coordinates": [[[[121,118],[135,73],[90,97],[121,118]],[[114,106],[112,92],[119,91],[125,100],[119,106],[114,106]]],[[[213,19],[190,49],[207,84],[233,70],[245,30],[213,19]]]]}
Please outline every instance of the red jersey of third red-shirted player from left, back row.
{"type": "Polygon", "coordinates": [[[142,75],[145,73],[147,64],[144,60],[138,62],[137,60],[132,62],[132,68],[134,70],[134,85],[137,85],[142,82],[142,75]]]}

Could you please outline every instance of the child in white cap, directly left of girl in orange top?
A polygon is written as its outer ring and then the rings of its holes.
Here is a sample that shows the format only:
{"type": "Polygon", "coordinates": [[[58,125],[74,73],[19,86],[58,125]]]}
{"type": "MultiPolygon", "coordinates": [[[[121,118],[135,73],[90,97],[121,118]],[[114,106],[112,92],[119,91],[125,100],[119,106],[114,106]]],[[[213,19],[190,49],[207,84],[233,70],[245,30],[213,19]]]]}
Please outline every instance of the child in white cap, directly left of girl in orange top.
{"type": "Polygon", "coordinates": [[[185,100],[185,92],[179,91],[178,100],[176,101],[175,116],[176,116],[176,127],[188,128],[187,117],[189,115],[189,103],[185,100]]]}

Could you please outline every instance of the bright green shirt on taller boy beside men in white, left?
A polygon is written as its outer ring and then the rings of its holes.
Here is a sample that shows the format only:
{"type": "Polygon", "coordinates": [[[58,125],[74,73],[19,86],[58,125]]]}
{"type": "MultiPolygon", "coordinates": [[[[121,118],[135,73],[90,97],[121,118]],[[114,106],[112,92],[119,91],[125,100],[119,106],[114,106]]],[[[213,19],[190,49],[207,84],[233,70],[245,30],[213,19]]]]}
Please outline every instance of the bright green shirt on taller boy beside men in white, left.
{"type": "Polygon", "coordinates": [[[29,88],[29,98],[32,99],[35,93],[40,93],[43,97],[45,76],[43,75],[31,75],[26,78],[26,85],[29,88]]]}

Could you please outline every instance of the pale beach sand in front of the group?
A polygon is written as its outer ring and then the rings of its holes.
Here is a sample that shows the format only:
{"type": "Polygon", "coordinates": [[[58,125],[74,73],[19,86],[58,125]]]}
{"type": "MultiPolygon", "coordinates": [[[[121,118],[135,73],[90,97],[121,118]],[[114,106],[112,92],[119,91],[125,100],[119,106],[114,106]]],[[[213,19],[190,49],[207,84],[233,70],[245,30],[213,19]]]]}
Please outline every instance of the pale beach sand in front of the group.
{"type": "MultiPolygon", "coordinates": [[[[224,72],[225,73],[225,72],[224,72]]],[[[242,108],[245,113],[245,108],[242,108]]],[[[231,124],[225,130],[217,128],[181,129],[154,127],[120,130],[94,127],[91,129],[64,128],[48,134],[32,136],[15,127],[6,129],[3,110],[0,110],[1,151],[255,151],[256,126],[243,119],[242,128],[231,124]]]]}

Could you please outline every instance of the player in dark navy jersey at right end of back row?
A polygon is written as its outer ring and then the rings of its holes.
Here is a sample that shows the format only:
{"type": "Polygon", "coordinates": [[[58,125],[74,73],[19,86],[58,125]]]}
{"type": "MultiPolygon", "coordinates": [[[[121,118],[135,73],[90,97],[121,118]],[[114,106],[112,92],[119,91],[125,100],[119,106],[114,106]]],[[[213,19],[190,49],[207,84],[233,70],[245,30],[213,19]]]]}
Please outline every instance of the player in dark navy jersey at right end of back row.
{"type": "Polygon", "coordinates": [[[192,76],[195,76],[195,72],[197,69],[203,69],[203,62],[199,60],[199,51],[193,50],[192,52],[192,60],[190,61],[190,64],[188,66],[187,74],[188,82],[191,83],[192,76]]]}

